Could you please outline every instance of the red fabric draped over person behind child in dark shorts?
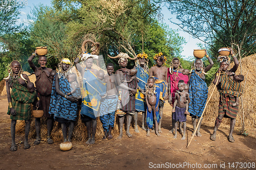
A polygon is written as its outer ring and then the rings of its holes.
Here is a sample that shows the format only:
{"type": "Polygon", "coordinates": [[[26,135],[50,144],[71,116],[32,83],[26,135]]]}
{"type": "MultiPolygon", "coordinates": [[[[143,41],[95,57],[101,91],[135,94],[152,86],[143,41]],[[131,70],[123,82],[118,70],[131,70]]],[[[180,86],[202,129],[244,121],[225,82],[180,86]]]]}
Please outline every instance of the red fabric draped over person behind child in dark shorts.
{"type": "Polygon", "coordinates": [[[183,75],[181,72],[174,71],[173,74],[170,74],[170,70],[168,69],[168,80],[170,80],[170,93],[172,94],[172,103],[175,101],[175,92],[178,90],[178,82],[183,80],[184,83],[188,83],[188,76],[183,75]]]}

